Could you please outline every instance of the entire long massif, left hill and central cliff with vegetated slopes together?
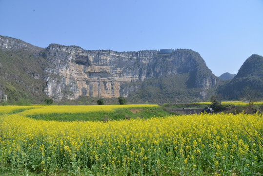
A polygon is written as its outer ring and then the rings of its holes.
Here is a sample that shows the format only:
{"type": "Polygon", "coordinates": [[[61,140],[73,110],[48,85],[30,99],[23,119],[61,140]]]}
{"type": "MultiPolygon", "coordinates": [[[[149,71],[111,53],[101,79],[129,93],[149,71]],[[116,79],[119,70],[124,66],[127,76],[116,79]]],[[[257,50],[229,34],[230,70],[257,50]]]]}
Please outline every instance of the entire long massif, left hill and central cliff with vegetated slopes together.
{"type": "MultiPolygon", "coordinates": [[[[50,44],[40,48],[0,36],[0,98],[128,97],[160,102],[207,99],[220,79],[199,53],[176,49],[117,52],[50,44]],[[185,98],[182,95],[185,94],[185,98]]],[[[38,99],[38,101],[36,100],[38,99]]]]}

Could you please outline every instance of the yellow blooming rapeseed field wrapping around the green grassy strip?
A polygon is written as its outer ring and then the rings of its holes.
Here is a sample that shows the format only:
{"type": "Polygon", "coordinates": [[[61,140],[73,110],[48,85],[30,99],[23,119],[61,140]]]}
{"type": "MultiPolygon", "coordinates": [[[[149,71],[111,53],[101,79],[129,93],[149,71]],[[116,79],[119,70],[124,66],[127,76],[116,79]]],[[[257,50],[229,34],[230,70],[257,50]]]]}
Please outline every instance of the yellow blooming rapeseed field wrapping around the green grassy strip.
{"type": "Polygon", "coordinates": [[[0,107],[0,170],[40,176],[263,174],[263,147],[244,130],[263,143],[263,136],[248,124],[263,133],[258,113],[108,122],[27,117],[143,106],[150,105],[0,107]]]}

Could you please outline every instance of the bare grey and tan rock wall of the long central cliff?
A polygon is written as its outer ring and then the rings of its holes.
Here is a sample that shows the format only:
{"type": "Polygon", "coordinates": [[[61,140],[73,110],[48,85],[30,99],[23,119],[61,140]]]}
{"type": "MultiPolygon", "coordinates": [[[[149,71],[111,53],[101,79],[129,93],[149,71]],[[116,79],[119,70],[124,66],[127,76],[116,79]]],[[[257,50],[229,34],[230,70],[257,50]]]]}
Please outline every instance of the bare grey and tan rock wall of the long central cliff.
{"type": "Polygon", "coordinates": [[[192,50],[174,50],[160,54],[157,50],[116,52],[84,50],[79,46],[50,44],[41,55],[48,59],[45,71],[48,96],[77,99],[81,95],[94,97],[127,96],[137,88],[121,89],[124,83],[144,81],[152,77],[192,73],[189,80],[195,88],[209,89],[217,77],[207,68],[201,56],[192,50]]]}

